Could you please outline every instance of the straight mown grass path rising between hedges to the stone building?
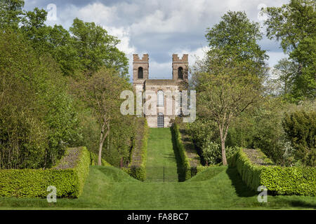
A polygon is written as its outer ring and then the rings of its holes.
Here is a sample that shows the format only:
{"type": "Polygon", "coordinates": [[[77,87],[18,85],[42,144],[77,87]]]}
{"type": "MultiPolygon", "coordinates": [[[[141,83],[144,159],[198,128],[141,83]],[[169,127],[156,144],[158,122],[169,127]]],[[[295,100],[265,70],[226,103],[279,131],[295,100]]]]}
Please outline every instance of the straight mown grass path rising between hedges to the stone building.
{"type": "Polygon", "coordinates": [[[150,128],[146,172],[146,181],[178,181],[170,128],[150,128]]]}

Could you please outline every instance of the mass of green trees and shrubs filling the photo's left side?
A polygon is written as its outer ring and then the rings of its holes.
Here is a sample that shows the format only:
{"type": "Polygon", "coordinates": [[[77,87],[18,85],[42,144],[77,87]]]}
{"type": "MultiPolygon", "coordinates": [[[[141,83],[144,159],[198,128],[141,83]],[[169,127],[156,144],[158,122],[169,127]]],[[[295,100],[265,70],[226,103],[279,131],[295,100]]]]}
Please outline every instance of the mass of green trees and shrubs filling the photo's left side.
{"type": "MultiPolygon", "coordinates": [[[[25,11],[23,6],[20,0],[0,2],[0,168],[4,169],[51,167],[66,147],[86,145],[98,151],[98,110],[78,94],[70,95],[69,83],[87,83],[90,76],[84,75],[98,76],[96,72],[106,66],[116,70],[113,86],[119,80],[124,90],[131,89],[126,79],[128,60],[117,49],[116,37],[78,19],[71,32],[61,25],[50,27],[46,10],[25,11]]],[[[110,113],[115,118],[103,158],[118,166],[122,157],[129,157],[133,116],[110,113]]]]}

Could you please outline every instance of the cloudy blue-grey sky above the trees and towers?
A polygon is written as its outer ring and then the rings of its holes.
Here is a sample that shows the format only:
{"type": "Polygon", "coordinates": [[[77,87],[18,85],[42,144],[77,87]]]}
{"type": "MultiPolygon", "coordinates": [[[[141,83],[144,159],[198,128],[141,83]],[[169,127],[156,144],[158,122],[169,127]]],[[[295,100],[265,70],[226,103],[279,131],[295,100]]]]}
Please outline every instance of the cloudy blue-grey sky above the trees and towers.
{"type": "Polygon", "coordinates": [[[117,46],[129,58],[132,77],[133,54],[150,57],[150,78],[172,78],[172,54],[189,54],[189,65],[202,58],[207,50],[206,29],[213,27],[228,11],[244,11],[248,18],[261,24],[263,39],[272,67],[283,57],[279,43],[265,36],[259,14],[262,7],[282,6],[286,0],[25,0],[25,10],[35,7],[48,11],[47,25],[66,29],[74,18],[95,22],[117,36],[117,46]]]}

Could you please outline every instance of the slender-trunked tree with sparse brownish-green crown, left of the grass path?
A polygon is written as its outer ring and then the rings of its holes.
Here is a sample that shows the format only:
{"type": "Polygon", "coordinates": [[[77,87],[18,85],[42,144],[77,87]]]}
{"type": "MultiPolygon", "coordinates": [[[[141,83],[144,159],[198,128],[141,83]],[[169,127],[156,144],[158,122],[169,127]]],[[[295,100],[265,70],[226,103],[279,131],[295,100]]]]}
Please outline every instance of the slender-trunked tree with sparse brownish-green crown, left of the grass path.
{"type": "Polygon", "coordinates": [[[110,127],[117,117],[121,116],[119,111],[123,90],[131,88],[125,78],[121,78],[113,69],[101,69],[96,74],[77,83],[79,95],[93,110],[98,125],[100,126],[98,165],[101,165],[102,150],[105,138],[110,133],[110,127]]]}

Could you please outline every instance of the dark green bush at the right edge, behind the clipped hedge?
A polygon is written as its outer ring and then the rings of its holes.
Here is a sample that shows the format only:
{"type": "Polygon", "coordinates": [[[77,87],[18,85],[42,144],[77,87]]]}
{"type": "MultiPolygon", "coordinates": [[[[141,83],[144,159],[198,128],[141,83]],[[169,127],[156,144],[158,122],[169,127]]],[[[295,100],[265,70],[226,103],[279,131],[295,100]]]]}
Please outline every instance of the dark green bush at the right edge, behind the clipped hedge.
{"type": "Polygon", "coordinates": [[[287,133],[287,138],[294,147],[297,160],[303,165],[316,165],[316,112],[294,111],[285,113],[282,125],[287,133]]]}

